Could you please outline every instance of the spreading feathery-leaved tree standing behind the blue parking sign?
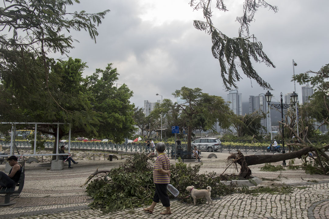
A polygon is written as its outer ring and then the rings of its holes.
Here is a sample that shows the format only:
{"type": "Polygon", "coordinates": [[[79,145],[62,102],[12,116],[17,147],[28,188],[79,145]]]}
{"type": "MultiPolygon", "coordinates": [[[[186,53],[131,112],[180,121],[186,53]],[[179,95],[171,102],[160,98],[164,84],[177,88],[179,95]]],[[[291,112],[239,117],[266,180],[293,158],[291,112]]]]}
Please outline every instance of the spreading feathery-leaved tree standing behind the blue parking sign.
{"type": "Polygon", "coordinates": [[[230,115],[232,114],[224,99],[218,96],[203,93],[200,88],[182,87],[173,93],[174,97],[179,97],[183,103],[172,103],[169,99],[164,99],[162,109],[166,113],[176,112],[184,120],[187,127],[187,150],[191,150],[191,136],[195,129],[212,129],[215,122],[223,128],[228,128],[230,115]]]}

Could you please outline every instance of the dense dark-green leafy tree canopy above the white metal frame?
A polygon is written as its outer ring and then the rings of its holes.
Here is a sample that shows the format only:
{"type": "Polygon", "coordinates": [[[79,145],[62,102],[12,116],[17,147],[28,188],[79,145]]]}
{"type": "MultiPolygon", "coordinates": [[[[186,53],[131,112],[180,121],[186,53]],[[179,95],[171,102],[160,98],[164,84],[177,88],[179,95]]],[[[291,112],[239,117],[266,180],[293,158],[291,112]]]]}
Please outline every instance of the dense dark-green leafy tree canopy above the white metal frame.
{"type": "MultiPolygon", "coordinates": [[[[22,84],[24,92],[15,89],[10,81],[1,81],[0,104],[4,107],[0,108],[0,121],[61,121],[71,124],[73,135],[101,136],[122,142],[134,129],[134,105],[129,101],[132,92],[126,85],[118,89],[113,86],[118,73],[112,64],[83,78],[86,67],[80,59],[72,58],[53,65],[48,84],[56,101],[49,98],[48,88],[34,89],[30,81],[22,84]]],[[[55,125],[38,125],[38,131],[57,137],[55,125]]],[[[67,135],[68,126],[61,125],[58,134],[60,139],[67,135]]],[[[56,147],[53,151],[56,152],[56,147]]]]}

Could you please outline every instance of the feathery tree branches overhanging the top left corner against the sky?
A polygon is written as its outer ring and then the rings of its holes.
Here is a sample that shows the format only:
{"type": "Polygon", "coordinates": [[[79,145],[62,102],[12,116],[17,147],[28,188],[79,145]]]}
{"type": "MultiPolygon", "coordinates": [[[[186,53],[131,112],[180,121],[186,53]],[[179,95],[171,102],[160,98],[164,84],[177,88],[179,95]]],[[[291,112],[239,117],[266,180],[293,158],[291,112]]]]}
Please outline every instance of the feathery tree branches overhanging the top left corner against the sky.
{"type": "MultiPolygon", "coordinates": [[[[67,55],[74,39],[63,32],[85,30],[95,41],[97,26],[109,10],[89,14],[68,12],[78,0],[6,0],[0,5],[0,79],[13,89],[26,92],[30,81],[35,90],[47,90],[48,101],[57,102],[49,74],[54,60],[49,53],[67,55]]],[[[96,42],[96,41],[95,41],[96,42]]],[[[53,78],[54,79],[54,78],[53,78]]],[[[32,89],[32,88],[31,88],[32,89]]],[[[17,97],[18,98],[18,97],[17,97]]],[[[71,111],[62,106],[66,114],[71,111]]],[[[71,115],[68,115],[71,116],[71,115]]]]}

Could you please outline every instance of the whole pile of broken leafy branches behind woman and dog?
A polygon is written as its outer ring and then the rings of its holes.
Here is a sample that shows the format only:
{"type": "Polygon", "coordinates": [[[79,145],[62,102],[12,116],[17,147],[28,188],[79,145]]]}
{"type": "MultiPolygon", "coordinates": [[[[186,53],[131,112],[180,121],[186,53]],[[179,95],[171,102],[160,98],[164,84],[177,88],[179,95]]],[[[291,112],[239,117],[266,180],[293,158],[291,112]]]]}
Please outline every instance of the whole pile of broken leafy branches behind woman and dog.
{"type": "MultiPolygon", "coordinates": [[[[87,186],[88,195],[94,199],[89,206],[112,212],[151,204],[155,191],[152,161],[144,154],[135,154],[110,173],[95,178],[87,186]]],[[[190,194],[186,190],[187,186],[195,186],[196,189],[211,186],[212,197],[234,192],[234,187],[221,184],[220,177],[214,172],[199,175],[200,167],[201,164],[187,166],[181,160],[171,166],[170,183],[180,191],[179,197],[190,194]]],[[[168,194],[173,198],[170,192],[168,194]]],[[[192,203],[191,199],[183,201],[192,203]]],[[[203,203],[205,200],[200,199],[198,202],[203,203]]]]}

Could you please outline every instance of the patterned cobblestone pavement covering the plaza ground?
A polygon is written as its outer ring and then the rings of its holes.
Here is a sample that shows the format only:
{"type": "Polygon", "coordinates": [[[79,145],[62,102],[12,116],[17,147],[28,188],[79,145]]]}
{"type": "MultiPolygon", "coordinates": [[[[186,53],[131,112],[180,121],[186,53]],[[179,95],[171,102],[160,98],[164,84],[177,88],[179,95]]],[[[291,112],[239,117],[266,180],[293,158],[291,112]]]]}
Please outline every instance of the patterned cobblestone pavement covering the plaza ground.
{"type": "MultiPolygon", "coordinates": [[[[207,152],[202,152],[201,173],[220,174],[226,168],[228,154],[216,153],[217,159],[207,159],[207,152]]],[[[80,187],[96,168],[111,169],[122,161],[79,161],[73,169],[67,166],[63,170],[49,170],[46,164],[25,165],[25,185],[16,204],[0,207],[0,218],[222,218],[222,219],[329,219],[329,176],[309,175],[303,170],[286,170],[280,172],[264,172],[262,165],[251,166],[253,176],[274,179],[280,173],[281,181],[263,180],[264,185],[286,183],[294,186],[293,193],[288,195],[266,194],[248,195],[232,194],[214,200],[213,205],[202,204],[192,206],[171,200],[171,215],[160,215],[164,210],[161,203],[153,214],[135,208],[115,213],[103,213],[101,210],[89,209],[92,201],[86,194],[86,186],[80,187]],[[312,181],[312,182],[310,182],[312,181]]],[[[174,160],[170,160],[173,164],[174,160]]],[[[195,165],[195,162],[187,162],[195,165]]],[[[288,163],[288,161],[287,161],[288,163]]],[[[274,165],[280,164],[280,162],[274,165]]],[[[0,165],[4,170],[4,165],[0,165]]],[[[236,171],[229,168],[226,173],[236,171]]],[[[0,197],[0,203],[4,197],[0,197]]],[[[146,207],[146,206],[145,206],[146,207]]]]}

